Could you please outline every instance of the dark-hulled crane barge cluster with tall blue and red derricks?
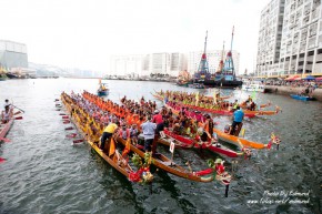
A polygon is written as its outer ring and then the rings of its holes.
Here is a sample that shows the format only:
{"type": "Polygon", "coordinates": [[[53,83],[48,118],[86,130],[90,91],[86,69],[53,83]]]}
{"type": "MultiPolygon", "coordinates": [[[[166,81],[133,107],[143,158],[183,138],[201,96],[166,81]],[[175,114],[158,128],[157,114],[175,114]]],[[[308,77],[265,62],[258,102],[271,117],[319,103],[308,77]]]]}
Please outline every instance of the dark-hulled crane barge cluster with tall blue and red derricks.
{"type": "MultiPolygon", "coordinates": [[[[232,41],[233,30],[231,37],[231,48],[227,53],[225,62],[223,63],[223,52],[219,69],[215,73],[210,73],[208,60],[207,60],[207,39],[208,32],[205,33],[204,50],[201,55],[198,71],[193,75],[193,83],[204,84],[208,88],[222,86],[222,88],[237,88],[242,85],[242,81],[238,80],[234,72],[234,65],[232,60],[232,41]]],[[[224,45],[223,45],[224,51],[224,45]]]]}

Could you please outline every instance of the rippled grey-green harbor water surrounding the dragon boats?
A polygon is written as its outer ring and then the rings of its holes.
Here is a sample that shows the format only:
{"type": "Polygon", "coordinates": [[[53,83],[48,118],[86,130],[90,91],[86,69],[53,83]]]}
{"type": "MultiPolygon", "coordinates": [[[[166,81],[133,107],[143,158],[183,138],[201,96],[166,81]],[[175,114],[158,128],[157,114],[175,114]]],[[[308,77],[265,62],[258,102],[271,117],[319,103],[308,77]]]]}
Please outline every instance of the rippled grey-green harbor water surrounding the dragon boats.
{"type": "MultiPolygon", "coordinates": [[[[229,196],[219,182],[197,183],[161,170],[153,173],[150,186],[131,183],[110,166],[88,144],[71,145],[56,99],[62,91],[95,93],[94,79],[34,79],[0,82],[0,101],[9,99],[26,111],[1,143],[0,213],[321,213],[322,212],[322,103],[302,102],[276,94],[255,94],[255,102],[269,100],[282,109],[278,115],[245,119],[245,139],[268,143],[274,132],[281,140],[280,150],[253,150],[250,160],[233,164],[229,196]]],[[[164,90],[197,91],[168,82],[108,80],[107,99],[153,100],[151,93],[164,90]]],[[[199,90],[213,94],[213,89],[199,90]]],[[[221,90],[245,100],[252,92],[221,90]]],[[[157,101],[162,106],[160,101],[157,101]]],[[[2,108],[2,105],[1,105],[2,108]]],[[[223,130],[229,116],[213,115],[223,130]]],[[[158,150],[170,156],[169,147],[158,150]]],[[[175,150],[174,161],[193,171],[207,169],[207,160],[217,154],[198,150],[175,150]]]]}

